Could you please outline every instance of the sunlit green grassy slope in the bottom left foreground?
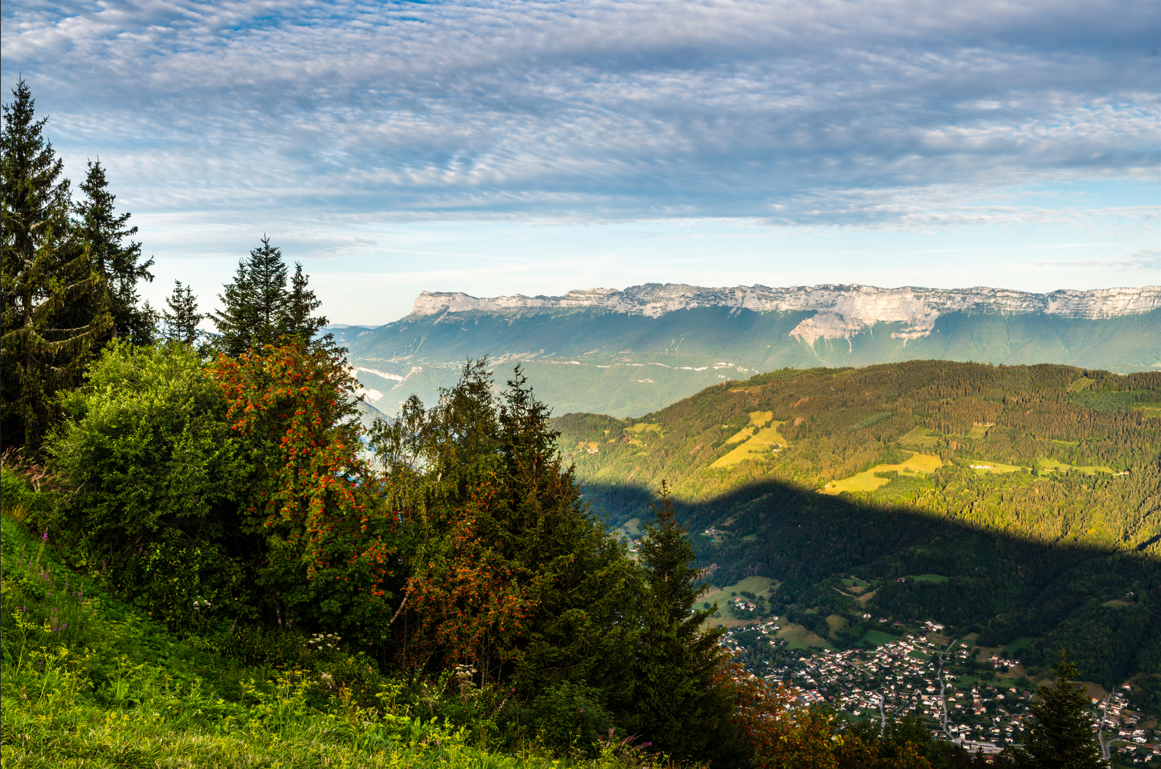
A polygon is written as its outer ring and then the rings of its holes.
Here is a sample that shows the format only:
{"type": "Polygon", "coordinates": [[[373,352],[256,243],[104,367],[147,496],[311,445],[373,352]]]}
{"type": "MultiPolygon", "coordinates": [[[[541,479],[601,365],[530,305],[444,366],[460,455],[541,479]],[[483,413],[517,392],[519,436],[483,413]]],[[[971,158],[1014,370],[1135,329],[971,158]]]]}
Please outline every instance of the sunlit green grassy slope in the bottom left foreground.
{"type": "Polygon", "coordinates": [[[646,767],[616,742],[596,757],[557,757],[533,740],[488,747],[468,730],[397,706],[401,687],[378,677],[377,706],[327,674],[245,667],[170,635],[50,558],[7,515],[0,539],[3,613],[3,767],[646,767]]]}

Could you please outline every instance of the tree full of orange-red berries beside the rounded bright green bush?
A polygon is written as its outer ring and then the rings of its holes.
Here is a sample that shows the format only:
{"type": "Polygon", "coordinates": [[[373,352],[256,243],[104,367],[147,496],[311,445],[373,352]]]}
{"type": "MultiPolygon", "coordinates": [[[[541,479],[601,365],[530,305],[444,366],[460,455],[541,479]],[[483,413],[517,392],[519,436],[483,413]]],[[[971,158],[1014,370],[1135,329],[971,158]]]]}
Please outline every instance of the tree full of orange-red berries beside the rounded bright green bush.
{"type": "Polygon", "coordinates": [[[402,582],[401,511],[377,503],[378,483],[358,457],[346,361],[297,339],[222,355],[211,375],[253,461],[243,532],[261,541],[259,608],[279,625],[382,645],[402,582]]]}

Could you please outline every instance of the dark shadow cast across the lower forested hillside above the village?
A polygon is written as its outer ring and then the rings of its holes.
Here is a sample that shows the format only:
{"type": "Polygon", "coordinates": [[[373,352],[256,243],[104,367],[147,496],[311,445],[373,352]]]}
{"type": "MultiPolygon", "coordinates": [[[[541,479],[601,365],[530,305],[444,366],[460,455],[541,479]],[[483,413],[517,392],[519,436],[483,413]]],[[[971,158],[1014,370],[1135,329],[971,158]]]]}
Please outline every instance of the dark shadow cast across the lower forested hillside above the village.
{"type": "MultiPolygon", "coordinates": [[[[611,520],[646,517],[657,498],[641,486],[583,490],[611,520]]],[[[1026,664],[1051,664],[1066,648],[1082,675],[1105,685],[1161,666],[1161,565],[1138,553],[1045,544],[770,480],[678,508],[715,584],[759,574],[783,583],[783,605],[850,611],[830,581],[853,573],[879,581],[861,606],[873,615],[868,630],[889,616],[981,632],[988,646],[1029,635],[1038,640],[1021,654],[1026,664]],[[728,533],[711,541],[709,526],[728,533]],[[923,574],[951,578],[899,582],[923,574]]]]}

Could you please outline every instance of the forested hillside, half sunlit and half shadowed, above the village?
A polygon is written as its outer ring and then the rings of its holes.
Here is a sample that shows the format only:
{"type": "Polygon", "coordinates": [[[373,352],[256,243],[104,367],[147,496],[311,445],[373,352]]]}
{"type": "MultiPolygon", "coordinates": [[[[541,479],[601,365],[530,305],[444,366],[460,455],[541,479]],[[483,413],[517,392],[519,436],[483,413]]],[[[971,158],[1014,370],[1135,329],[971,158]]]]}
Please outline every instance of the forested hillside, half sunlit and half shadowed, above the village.
{"type": "Polygon", "coordinates": [[[714,530],[695,537],[714,583],[772,577],[776,608],[846,619],[835,640],[933,618],[988,646],[1032,637],[1030,666],[1068,648],[1115,682],[1161,671],[1159,416],[1156,373],[911,361],[784,369],[640,419],[555,424],[614,525],[647,518],[666,480],[693,529],[714,530]],[[950,580],[906,580],[924,574],[950,580]],[[881,587],[832,589],[851,575],[881,587]]]}

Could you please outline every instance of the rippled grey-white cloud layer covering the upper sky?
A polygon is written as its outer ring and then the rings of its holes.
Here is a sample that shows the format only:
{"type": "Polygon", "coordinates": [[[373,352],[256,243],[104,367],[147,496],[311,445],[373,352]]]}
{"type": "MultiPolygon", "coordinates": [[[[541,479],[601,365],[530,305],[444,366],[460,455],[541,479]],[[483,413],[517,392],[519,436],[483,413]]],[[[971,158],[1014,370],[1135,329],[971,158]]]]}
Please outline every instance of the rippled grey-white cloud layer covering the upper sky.
{"type": "Polygon", "coordinates": [[[9,0],[2,22],[6,93],[23,73],[57,145],[153,213],[907,229],[1067,218],[987,197],[1161,165],[1147,1],[9,0]]]}

